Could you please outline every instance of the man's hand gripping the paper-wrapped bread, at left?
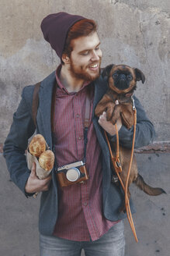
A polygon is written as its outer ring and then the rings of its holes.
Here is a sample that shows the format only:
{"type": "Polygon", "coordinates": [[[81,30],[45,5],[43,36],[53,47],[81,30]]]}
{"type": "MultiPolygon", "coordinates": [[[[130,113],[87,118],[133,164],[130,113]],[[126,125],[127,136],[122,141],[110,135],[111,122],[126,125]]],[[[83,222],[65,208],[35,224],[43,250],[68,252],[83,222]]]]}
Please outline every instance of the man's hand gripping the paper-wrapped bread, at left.
{"type": "Polygon", "coordinates": [[[40,191],[47,191],[48,187],[50,185],[51,176],[47,176],[46,179],[40,180],[36,176],[36,163],[33,162],[33,167],[31,169],[31,173],[29,175],[29,178],[26,182],[26,193],[36,193],[40,191]]]}

